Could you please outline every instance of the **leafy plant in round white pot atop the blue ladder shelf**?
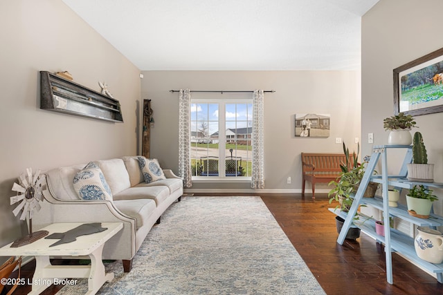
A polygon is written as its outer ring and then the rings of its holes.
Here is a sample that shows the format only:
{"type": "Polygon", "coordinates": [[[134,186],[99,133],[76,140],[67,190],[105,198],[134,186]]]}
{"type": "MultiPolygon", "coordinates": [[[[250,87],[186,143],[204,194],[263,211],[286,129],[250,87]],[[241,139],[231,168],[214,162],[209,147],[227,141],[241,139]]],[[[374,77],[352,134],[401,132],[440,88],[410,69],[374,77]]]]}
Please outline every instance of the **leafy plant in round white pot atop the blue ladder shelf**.
{"type": "Polygon", "coordinates": [[[417,122],[412,115],[399,113],[383,120],[383,128],[389,130],[388,144],[410,145],[413,138],[410,135],[410,129],[415,127],[417,122]]]}

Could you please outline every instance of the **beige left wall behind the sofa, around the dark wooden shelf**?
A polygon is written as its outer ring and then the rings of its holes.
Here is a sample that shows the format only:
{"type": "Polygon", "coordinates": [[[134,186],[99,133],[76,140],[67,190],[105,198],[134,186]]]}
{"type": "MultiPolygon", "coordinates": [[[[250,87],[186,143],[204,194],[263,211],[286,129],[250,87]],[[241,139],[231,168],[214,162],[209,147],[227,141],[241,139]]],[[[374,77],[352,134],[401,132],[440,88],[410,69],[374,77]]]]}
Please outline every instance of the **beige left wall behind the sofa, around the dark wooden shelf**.
{"type": "Polygon", "coordinates": [[[0,245],[21,236],[9,197],[27,167],[51,169],[136,154],[139,70],[59,0],[0,2],[0,245]],[[123,124],[39,108],[39,70],[69,70],[120,100],[123,124]]]}

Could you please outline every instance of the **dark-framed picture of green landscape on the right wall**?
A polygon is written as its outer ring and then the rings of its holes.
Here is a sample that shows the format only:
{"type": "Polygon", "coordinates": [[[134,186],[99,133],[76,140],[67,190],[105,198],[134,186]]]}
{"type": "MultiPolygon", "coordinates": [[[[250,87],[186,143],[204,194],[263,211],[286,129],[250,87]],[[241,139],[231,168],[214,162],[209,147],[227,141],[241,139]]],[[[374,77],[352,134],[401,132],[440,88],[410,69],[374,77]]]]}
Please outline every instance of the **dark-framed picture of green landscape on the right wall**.
{"type": "Polygon", "coordinates": [[[393,70],[394,114],[443,112],[443,48],[393,70]]]}

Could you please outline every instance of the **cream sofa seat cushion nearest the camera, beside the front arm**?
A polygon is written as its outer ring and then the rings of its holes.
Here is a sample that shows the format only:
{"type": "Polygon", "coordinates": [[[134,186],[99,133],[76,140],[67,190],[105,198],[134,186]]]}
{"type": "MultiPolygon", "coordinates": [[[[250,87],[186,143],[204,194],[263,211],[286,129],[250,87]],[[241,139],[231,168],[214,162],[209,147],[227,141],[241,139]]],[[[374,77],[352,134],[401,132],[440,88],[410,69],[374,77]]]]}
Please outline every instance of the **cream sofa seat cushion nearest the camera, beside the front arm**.
{"type": "Polygon", "coordinates": [[[155,201],[152,199],[138,200],[114,200],[117,209],[127,216],[136,218],[136,228],[139,229],[145,224],[145,220],[150,218],[152,212],[156,209],[155,201]]]}

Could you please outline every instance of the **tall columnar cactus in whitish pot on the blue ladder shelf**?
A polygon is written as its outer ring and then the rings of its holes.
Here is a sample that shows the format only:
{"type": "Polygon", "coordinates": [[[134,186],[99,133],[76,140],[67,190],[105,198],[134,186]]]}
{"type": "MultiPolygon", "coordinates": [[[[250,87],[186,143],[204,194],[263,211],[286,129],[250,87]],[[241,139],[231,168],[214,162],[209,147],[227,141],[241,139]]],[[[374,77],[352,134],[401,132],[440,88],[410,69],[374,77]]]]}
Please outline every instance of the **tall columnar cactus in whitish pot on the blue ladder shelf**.
{"type": "Polygon", "coordinates": [[[413,162],[408,164],[408,180],[434,182],[434,164],[428,164],[428,155],[422,133],[414,133],[413,162]]]}

